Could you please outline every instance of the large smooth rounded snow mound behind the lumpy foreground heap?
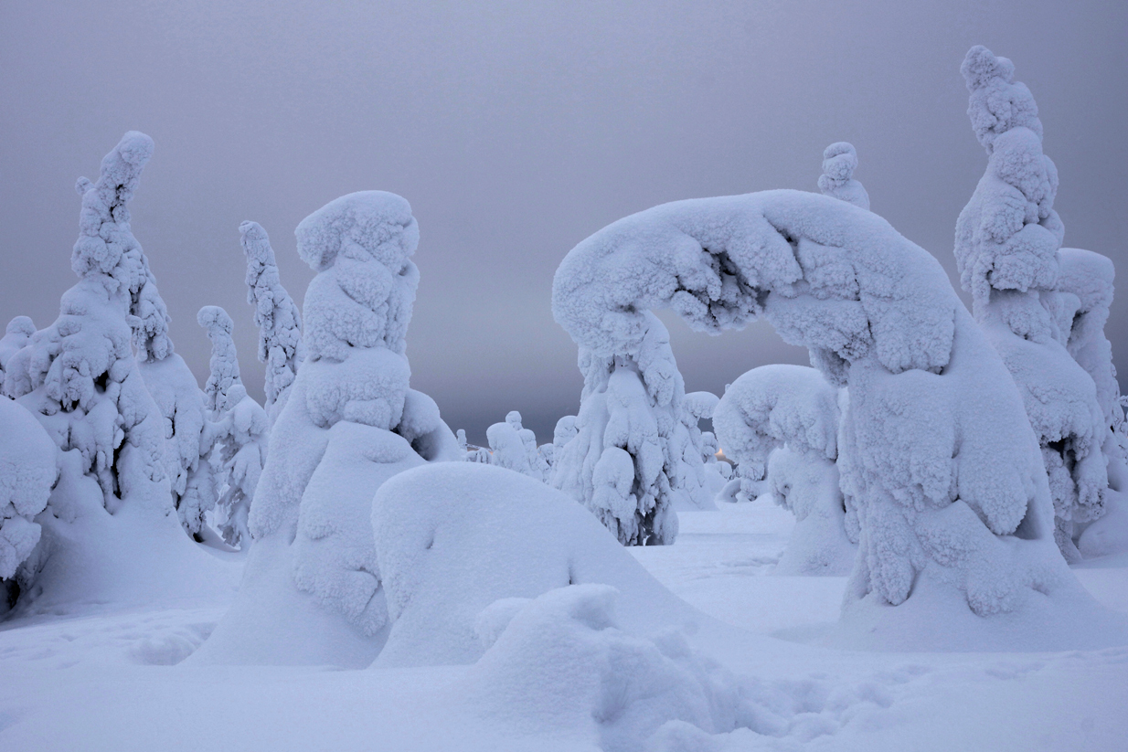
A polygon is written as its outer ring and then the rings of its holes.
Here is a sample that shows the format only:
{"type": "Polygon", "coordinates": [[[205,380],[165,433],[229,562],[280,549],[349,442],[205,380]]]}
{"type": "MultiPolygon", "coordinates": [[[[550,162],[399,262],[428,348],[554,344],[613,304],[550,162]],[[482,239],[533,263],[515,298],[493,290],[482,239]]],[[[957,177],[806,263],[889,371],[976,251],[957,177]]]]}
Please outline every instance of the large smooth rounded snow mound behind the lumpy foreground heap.
{"type": "Polygon", "coordinates": [[[702,618],[585,508],[511,470],[451,462],[399,474],[377,492],[372,527],[393,620],[378,666],[473,663],[484,609],[580,583],[618,589],[624,625],[642,631],[702,618]]]}

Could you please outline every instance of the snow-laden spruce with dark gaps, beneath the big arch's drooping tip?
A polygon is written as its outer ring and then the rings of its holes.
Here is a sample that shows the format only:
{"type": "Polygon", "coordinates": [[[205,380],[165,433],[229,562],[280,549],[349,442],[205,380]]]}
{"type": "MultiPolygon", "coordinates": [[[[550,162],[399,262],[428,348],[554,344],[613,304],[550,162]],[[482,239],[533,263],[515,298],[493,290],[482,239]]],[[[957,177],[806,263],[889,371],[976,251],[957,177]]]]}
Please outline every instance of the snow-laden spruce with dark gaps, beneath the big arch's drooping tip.
{"type": "Polygon", "coordinates": [[[597,352],[578,339],[580,413],[565,427],[575,435],[554,450],[552,484],[585,504],[625,546],[662,546],[678,534],[676,507],[710,508],[712,499],[670,335],[650,312],[640,315],[640,327],[631,347],[597,352]]]}

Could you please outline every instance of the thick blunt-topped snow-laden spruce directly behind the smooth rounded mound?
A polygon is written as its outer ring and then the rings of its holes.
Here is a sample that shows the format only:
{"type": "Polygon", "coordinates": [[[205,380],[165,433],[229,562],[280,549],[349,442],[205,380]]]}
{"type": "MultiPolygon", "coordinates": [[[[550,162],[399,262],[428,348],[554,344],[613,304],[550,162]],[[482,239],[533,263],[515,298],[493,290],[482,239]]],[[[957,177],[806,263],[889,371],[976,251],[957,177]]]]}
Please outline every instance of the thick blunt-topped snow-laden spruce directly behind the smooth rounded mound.
{"type": "Polygon", "coordinates": [[[235,605],[193,660],[367,665],[388,613],[372,494],[428,461],[461,459],[405,355],[418,225],[390,193],[342,196],[298,225],[318,274],[306,291],[306,361],[271,428],[255,539],[235,605]]]}

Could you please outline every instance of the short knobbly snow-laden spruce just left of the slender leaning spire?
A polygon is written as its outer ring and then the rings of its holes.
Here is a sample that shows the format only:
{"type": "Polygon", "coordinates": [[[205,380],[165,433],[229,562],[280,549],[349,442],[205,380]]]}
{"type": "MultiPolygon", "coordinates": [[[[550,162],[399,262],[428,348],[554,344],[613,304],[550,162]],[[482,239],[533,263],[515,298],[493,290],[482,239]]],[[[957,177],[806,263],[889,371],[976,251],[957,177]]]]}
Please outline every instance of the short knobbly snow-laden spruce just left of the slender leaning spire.
{"type": "Polygon", "coordinates": [[[212,496],[215,522],[224,541],[246,548],[250,543],[247,517],[266,462],[270,422],[239,377],[231,317],[219,306],[204,306],[196,321],[212,343],[211,371],[204,387],[212,419],[205,428],[203,448],[210,446],[204,463],[211,467],[213,462],[218,470],[212,496]]]}

